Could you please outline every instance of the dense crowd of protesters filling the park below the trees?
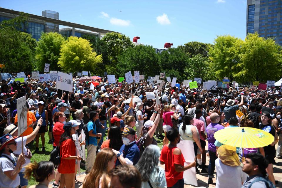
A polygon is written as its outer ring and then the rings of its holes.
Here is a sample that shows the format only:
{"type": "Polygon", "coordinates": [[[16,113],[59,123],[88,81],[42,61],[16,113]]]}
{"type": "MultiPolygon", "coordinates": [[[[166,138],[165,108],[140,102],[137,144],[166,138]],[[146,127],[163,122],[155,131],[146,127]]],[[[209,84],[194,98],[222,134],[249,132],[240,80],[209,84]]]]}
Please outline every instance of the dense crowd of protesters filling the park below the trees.
{"type": "Polygon", "coordinates": [[[206,91],[202,84],[189,88],[181,83],[180,88],[171,83],[158,88],[156,82],[149,85],[146,81],[109,84],[106,77],[99,77],[93,85],[93,80],[76,77],[72,92],[67,92],[58,90],[55,81],[39,82],[29,75],[25,83],[2,80],[0,187],[25,188],[33,176],[37,188],[48,187],[52,180],[54,188],[73,188],[80,160],[85,161],[83,187],[87,188],[184,187],[183,172],[191,168],[208,175],[209,184],[214,183],[216,169],[216,187],[271,187],[277,183],[273,164],[277,164],[275,157],[282,158],[280,88],[234,86],[206,91]],[[158,93],[158,99],[147,99],[146,92],[158,93]],[[16,99],[23,96],[28,127],[17,137],[16,99]],[[243,113],[241,117],[237,110],[243,113]],[[216,131],[232,127],[267,131],[273,143],[244,148],[242,153],[214,138],[216,131]],[[161,149],[157,138],[162,140],[161,149]],[[182,140],[194,143],[194,161],[186,165],[177,147],[182,140]],[[85,159],[78,153],[77,141],[87,149],[85,159]],[[52,162],[31,162],[31,153],[44,153],[46,144],[60,151],[56,169],[52,162]],[[32,145],[34,151],[29,149],[32,145]],[[242,156],[246,157],[243,164],[242,156]]]}

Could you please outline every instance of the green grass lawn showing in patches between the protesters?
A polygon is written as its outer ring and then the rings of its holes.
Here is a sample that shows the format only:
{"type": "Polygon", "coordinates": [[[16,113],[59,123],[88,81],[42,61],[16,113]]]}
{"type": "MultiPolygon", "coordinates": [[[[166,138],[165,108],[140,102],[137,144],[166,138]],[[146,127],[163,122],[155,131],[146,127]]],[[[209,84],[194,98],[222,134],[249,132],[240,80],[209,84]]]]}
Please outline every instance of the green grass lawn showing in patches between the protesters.
{"type": "MultiPolygon", "coordinates": [[[[134,129],[136,130],[135,127],[134,127],[134,129]]],[[[108,131],[106,130],[106,134],[105,134],[104,140],[106,140],[107,134],[108,134],[108,131]]],[[[155,139],[157,141],[158,146],[160,148],[162,148],[162,140],[160,140],[157,137],[155,137],[155,139]]],[[[42,150],[41,150],[42,142],[41,142],[41,138],[39,138],[39,145],[38,145],[39,152],[38,153],[34,152],[35,151],[35,141],[33,142],[33,145],[30,147],[30,150],[32,152],[31,162],[33,162],[33,161],[36,161],[36,162],[49,161],[50,153],[53,150],[53,145],[52,144],[48,144],[48,141],[49,141],[48,132],[46,132],[45,133],[45,152],[42,152],[42,150]]],[[[86,149],[85,153],[87,155],[87,149],[86,149]]],[[[85,172],[85,168],[84,167],[80,168],[80,172],[85,172]]],[[[35,178],[31,177],[31,179],[28,181],[28,186],[36,185],[36,184],[37,184],[37,182],[35,181],[35,178]]]]}

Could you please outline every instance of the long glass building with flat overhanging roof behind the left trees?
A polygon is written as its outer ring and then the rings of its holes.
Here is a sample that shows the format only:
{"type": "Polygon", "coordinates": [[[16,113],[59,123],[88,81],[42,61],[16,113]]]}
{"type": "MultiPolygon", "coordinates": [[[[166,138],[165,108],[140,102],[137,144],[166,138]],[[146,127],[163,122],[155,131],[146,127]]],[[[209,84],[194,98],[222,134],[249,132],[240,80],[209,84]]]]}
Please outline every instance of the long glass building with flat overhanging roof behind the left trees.
{"type": "MultiPolygon", "coordinates": [[[[13,19],[16,16],[19,16],[21,14],[20,11],[15,11],[11,9],[5,9],[0,7],[0,22],[3,20],[13,19]]],[[[27,13],[28,14],[28,13],[27,13]]],[[[34,14],[28,14],[29,21],[27,25],[27,28],[25,28],[27,33],[30,33],[33,38],[36,40],[39,40],[42,32],[60,32],[59,25],[61,26],[67,26],[70,28],[64,28],[66,30],[71,31],[71,36],[82,36],[83,32],[88,34],[93,34],[97,37],[101,37],[101,35],[105,35],[106,33],[115,32],[100,28],[95,28],[91,26],[85,26],[81,24],[75,24],[68,21],[62,21],[59,20],[59,13],[55,11],[42,11],[42,15],[45,16],[38,16],[34,14]],[[80,31],[77,29],[83,29],[86,31],[80,31]],[[76,34],[75,34],[76,33],[76,34]]],[[[118,33],[118,32],[116,32],[118,33]]],[[[68,34],[69,36],[69,34],[68,34]]]]}

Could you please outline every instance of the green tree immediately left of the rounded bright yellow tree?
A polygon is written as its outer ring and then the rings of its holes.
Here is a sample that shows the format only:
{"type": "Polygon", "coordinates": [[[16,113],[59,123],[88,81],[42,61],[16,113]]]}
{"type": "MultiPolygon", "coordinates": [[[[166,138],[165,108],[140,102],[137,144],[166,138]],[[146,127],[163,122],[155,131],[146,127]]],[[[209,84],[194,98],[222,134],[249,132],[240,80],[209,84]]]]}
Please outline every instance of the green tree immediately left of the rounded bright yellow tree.
{"type": "Polygon", "coordinates": [[[60,70],[57,63],[64,41],[65,38],[59,33],[49,32],[41,35],[35,52],[37,70],[43,72],[45,63],[50,63],[50,70],[60,70]]]}

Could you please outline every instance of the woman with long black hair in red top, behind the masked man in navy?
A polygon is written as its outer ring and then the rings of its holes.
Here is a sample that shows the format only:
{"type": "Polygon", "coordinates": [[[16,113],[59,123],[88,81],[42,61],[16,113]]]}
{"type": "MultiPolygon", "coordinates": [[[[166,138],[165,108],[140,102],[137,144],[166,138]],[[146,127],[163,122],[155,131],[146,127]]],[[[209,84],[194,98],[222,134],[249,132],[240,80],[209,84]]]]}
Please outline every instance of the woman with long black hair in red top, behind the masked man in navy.
{"type": "Polygon", "coordinates": [[[103,148],[120,150],[120,147],[123,145],[122,136],[120,134],[120,127],[113,125],[108,130],[108,140],[105,140],[101,145],[101,150],[103,148]]]}

